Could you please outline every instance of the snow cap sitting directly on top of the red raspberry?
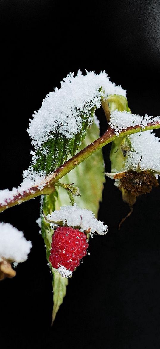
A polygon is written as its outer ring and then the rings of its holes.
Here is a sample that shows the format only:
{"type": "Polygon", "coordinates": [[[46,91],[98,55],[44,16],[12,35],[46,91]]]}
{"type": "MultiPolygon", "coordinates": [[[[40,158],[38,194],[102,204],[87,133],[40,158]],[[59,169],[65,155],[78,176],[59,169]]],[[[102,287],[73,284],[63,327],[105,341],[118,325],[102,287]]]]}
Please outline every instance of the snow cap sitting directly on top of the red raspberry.
{"type": "MultiPolygon", "coordinates": [[[[103,222],[97,221],[92,211],[74,206],[62,206],[60,210],[55,210],[47,219],[52,222],[67,224],[68,227],[81,227],[81,231],[90,229],[91,234],[97,232],[100,235],[106,234],[108,227],[103,222]]],[[[55,226],[56,224],[51,225],[55,226]]]]}

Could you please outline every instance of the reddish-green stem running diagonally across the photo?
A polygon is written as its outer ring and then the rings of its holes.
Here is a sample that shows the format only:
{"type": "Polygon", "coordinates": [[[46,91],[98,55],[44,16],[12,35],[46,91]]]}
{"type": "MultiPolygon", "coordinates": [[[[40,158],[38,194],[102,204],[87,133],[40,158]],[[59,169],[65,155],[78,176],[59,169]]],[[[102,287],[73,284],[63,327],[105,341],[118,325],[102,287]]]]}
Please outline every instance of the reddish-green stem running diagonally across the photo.
{"type": "MultiPolygon", "coordinates": [[[[3,200],[5,203],[0,203],[0,212],[6,210],[9,207],[19,205],[20,203],[30,200],[32,198],[35,198],[39,195],[48,195],[54,192],[54,184],[59,181],[60,178],[64,177],[65,174],[73,170],[76,166],[78,166],[81,162],[83,162],[85,159],[87,159],[89,156],[94,154],[97,150],[100,148],[106,146],[108,143],[113,142],[116,138],[121,138],[133,133],[138,133],[142,131],[148,131],[151,129],[160,128],[160,121],[153,121],[149,122],[146,127],[142,129],[141,125],[136,125],[132,127],[127,127],[122,132],[119,133],[117,136],[114,132],[114,129],[112,129],[110,126],[108,127],[107,131],[98,138],[93,143],[89,144],[86,148],[79,151],[78,154],[76,154],[74,157],[66,161],[63,165],[61,165],[59,168],[57,168],[52,174],[49,174],[45,179],[42,181],[41,184],[35,185],[28,190],[22,190],[21,187],[10,191],[10,195],[7,192],[7,198],[3,200]],[[42,188],[43,189],[40,189],[42,188]]],[[[5,191],[3,191],[5,192],[5,191]]]]}

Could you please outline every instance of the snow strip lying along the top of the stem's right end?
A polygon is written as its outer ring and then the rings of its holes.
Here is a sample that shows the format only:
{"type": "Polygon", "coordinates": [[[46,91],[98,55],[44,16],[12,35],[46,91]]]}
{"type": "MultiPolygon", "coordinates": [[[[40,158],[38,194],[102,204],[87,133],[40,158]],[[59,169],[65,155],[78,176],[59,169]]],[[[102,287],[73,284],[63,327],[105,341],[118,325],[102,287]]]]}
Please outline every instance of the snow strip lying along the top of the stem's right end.
{"type": "Polygon", "coordinates": [[[119,135],[119,132],[123,131],[123,129],[126,129],[127,127],[141,125],[141,127],[144,128],[151,121],[160,121],[160,116],[152,118],[152,116],[145,114],[143,118],[140,115],[134,115],[126,111],[120,112],[118,110],[114,110],[110,115],[109,125],[115,130],[115,133],[119,135]]]}

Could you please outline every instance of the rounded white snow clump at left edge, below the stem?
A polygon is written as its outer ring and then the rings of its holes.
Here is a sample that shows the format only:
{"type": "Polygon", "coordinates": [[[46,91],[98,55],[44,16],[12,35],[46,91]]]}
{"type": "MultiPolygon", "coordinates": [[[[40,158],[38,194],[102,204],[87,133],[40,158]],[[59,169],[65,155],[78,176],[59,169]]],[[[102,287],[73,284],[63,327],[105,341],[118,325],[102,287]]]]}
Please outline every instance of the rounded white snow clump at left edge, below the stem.
{"type": "Polygon", "coordinates": [[[0,258],[6,258],[17,263],[24,262],[32,247],[22,231],[8,223],[0,223],[0,258]]]}

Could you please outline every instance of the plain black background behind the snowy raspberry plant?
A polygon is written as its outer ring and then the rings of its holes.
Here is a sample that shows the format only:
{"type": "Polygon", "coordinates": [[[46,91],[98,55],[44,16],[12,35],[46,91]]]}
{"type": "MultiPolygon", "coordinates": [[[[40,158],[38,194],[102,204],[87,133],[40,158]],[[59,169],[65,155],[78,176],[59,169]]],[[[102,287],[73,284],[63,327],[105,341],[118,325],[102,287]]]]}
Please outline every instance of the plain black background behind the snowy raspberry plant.
{"type": "MultiPolygon", "coordinates": [[[[0,7],[2,189],[21,183],[31,160],[29,118],[69,72],[105,69],[127,89],[133,113],[160,113],[158,0],[1,0],[0,7]]],[[[102,133],[106,122],[102,111],[98,116],[102,133]]],[[[33,244],[17,276],[0,284],[1,348],[160,348],[160,188],[137,200],[118,231],[128,207],[107,179],[99,219],[109,232],[91,239],[53,327],[39,208],[36,198],[1,214],[33,244]]]]}

